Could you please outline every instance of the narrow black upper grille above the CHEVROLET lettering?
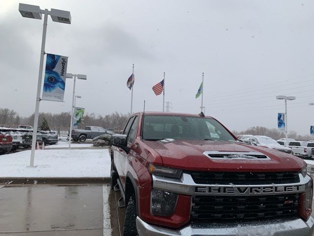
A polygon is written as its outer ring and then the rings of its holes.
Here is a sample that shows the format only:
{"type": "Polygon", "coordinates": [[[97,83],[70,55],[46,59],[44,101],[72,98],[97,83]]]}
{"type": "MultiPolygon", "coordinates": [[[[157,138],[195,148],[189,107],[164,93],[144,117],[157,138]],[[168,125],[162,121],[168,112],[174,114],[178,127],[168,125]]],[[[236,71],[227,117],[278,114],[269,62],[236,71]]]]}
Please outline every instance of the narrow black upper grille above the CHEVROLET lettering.
{"type": "Polygon", "coordinates": [[[198,184],[283,184],[300,181],[298,172],[190,172],[198,184]]]}

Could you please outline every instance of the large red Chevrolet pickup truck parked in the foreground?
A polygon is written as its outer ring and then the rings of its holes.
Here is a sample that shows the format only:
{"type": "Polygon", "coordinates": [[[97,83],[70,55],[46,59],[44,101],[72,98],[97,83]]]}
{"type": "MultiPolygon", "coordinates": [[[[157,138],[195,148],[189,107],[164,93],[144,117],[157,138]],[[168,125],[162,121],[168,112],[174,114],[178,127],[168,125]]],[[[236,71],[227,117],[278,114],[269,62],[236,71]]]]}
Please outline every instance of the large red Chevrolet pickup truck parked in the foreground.
{"type": "Polygon", "coordinates": [[[111,144],[124,236],[314,234],[306,163],[241,143],[214,118],[136,113],[111,144]]]}

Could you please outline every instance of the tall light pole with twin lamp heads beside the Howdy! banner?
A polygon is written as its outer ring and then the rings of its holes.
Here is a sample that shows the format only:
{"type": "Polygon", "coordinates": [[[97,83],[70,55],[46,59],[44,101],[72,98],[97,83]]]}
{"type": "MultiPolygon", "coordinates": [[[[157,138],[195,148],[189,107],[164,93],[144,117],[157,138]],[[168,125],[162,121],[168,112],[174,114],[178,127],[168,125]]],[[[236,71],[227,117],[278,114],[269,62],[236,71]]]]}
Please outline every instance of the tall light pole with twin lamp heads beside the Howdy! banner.
{"type": "Polygon", "coordinates": [[[39,6],[29,5],[29,4],[24,4],[24,3],[19,4],[19,11],[23,17],[39,19],[39,20],[42,19],[42,14],[44,14],[43,36],[42,36],[41,50],[40,50],[36,106],[35,106],[35,114],[34,114],[33,138],[32,138],[32,143],[31,143],[31,154],[30,154],[30,162],[29,162],[29,166],[34,167],[34,156],[35,156],[35,146],[36,146],[36,137],[37,137],[41,83],[42,83],[43,67],[44,67],[48,15],[51,16],[51,19],[54,22],[71,24],[71,14],[69,11],[57,10],[53,8],[50,11],[48,9],[42,10],[40,9],[39,6]]]}

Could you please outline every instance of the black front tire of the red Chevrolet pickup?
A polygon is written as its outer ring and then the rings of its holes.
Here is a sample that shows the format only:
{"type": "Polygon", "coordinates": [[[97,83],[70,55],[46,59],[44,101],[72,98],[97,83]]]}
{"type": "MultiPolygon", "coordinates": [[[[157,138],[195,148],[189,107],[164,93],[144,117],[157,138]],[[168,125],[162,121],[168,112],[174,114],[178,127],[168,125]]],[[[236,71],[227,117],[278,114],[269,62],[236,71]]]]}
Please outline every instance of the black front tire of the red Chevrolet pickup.
{"type": "Polygon", "coordinates": [[[131,195],[126,209],[126,217],[124,219],[123,236],[137,236],[136,217],[135,197],[134,195],[131,195]]]}

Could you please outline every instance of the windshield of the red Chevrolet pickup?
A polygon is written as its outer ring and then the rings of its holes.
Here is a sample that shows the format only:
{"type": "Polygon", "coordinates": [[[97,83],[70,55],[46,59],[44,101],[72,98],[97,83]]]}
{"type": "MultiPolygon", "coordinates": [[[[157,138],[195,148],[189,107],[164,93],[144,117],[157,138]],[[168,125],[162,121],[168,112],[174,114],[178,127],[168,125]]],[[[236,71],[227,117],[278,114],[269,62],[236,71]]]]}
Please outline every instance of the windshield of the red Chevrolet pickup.
{"type": "Polygon", "coordinates": [[[146,115],[143,122],[144,140],[235,141],[235,138],[213,118],[146,115]]]}

